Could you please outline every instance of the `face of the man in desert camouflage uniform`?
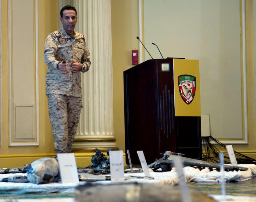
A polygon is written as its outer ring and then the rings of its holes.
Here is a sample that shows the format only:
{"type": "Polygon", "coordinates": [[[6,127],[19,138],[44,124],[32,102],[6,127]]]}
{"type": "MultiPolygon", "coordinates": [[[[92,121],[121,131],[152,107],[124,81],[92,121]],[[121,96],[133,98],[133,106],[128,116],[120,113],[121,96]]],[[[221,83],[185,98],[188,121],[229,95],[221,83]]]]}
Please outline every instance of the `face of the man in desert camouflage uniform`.
{"type": "Polygon", "coordinates": [[[68,34],[73,34],[73,31],[76,26],[76,21],[77,21],[76,12],[73,10],[64,10],[63,17],[62,18],[60,17],[60,22],[63,25],[63,29],[68,34]]]}

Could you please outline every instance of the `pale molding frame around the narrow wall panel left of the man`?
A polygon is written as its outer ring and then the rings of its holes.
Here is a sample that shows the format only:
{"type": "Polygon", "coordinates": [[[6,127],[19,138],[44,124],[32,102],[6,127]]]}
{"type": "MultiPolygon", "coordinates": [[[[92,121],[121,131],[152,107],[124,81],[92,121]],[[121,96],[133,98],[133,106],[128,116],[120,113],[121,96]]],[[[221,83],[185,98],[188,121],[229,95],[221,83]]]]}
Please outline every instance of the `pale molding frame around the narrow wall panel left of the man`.
{"type": "MultiPolygon", "coordinates": [[[[9,146],[38,146],[39,145],[39,76],[38,76],[38,0],[33,1],[35,11],[35,65],[36,65],[36,141],[35,142],[13,142],[13,69],[12,69],[12,0],[8,0],[8,143],[9,146]]],[[[35,79],[35,78],[34,78],[35,79]]]]}

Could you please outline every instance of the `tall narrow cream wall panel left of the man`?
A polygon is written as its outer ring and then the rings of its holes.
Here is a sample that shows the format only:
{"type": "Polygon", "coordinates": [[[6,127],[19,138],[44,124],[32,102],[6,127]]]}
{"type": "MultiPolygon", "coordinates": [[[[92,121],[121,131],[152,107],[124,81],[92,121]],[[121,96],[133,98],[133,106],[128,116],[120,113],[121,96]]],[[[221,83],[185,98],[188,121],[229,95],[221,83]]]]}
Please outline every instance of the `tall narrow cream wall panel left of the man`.
{"type": "Polygon", "coordinates": [[[36,6],[37,0],[8,1],[9,146],[39,144],[36,6]]]}

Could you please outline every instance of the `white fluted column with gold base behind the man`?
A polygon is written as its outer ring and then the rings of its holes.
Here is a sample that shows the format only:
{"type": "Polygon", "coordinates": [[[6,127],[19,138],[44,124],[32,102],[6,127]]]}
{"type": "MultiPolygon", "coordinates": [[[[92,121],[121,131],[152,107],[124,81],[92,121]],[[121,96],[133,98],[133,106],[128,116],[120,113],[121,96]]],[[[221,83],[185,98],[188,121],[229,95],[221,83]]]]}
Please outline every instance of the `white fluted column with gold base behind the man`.
{"type": "Polygon", "coordinates": [[[91,67],[81,73],[83,108],[73,152],[119,150],[113,134],[113,82],[110,0],[74,0],[75,30],[85,36],[91,67]]]}

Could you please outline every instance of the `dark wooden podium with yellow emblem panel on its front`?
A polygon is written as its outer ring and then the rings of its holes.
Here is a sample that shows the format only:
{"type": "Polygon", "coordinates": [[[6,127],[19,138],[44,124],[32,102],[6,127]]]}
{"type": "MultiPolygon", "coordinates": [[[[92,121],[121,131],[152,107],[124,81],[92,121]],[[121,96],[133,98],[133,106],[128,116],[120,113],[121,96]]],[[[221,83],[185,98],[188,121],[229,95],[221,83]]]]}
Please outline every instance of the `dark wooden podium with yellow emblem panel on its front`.
{"type": "Polygon", "coordinates": [[[165,151],[201,159],[199,61],[151,59],[124,71],[124,117],[132,163],[147,163],[165,151]]]}

